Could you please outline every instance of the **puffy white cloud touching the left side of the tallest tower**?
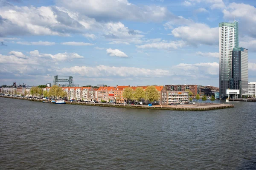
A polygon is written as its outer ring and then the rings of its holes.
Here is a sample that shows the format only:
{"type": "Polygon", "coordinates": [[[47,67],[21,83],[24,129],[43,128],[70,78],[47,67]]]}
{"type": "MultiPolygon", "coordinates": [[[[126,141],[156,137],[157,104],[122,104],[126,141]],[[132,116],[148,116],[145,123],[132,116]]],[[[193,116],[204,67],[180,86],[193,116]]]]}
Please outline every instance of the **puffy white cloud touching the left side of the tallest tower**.
{"type": "Polygon", "coordinates": [[[210,28],[206,24],[194,23],[180,26],[172,30],[174,37],[182,38],[191,45],[218,45],[218,28],[210,28]]]}

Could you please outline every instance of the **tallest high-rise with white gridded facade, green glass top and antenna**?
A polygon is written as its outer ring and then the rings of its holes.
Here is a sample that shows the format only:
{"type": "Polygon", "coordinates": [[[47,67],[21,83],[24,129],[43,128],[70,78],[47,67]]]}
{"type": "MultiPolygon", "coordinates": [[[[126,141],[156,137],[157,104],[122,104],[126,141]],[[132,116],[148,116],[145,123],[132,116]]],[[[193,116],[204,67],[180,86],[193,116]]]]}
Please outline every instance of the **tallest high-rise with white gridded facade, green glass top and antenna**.
{"type": "Polygon", "coordinates": [[[226,90],[233,86],[232,51],[239,47],[238,22],[219,23],[219,85],[220,98],[225,98],[226,90]]]}

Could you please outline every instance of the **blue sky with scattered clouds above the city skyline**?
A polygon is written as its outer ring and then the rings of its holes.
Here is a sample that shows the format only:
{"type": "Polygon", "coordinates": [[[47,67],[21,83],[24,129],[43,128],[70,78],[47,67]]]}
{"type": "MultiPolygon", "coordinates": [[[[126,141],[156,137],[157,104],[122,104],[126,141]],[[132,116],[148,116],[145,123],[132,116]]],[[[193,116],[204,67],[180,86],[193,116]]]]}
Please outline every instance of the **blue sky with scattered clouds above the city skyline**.
{"type": "Polygon", "coordinates": [[[0,0],[0,85],[219,87],[218,23],[234,15],[256,82],[255,0],[0,0]]]}

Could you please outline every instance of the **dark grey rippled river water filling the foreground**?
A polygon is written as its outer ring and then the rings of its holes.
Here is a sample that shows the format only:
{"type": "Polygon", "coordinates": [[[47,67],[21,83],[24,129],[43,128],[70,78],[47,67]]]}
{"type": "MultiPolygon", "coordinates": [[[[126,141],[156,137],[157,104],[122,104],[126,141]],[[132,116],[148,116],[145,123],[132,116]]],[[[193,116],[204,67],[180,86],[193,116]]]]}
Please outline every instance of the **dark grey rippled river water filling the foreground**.
{"type": "Polygon", "coordinates": [[[256,169],[256,102],[230,104],[192,112],[0,98],[0,169],[256,169]]]}

